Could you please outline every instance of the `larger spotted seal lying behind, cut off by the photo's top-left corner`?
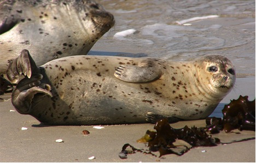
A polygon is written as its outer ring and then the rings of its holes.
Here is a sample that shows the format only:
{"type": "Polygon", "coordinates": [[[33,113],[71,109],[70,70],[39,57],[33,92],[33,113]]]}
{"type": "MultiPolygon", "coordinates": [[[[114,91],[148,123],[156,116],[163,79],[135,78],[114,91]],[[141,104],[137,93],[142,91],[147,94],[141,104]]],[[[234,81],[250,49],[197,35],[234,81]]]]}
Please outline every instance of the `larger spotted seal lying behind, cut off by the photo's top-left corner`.
{"type": "Polygon", "coordinates": [[[114,17],[94,1],[0,1],[0,73],[22,49],[37,65],[86,55],[113,25],[114,17]]]}

